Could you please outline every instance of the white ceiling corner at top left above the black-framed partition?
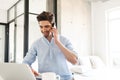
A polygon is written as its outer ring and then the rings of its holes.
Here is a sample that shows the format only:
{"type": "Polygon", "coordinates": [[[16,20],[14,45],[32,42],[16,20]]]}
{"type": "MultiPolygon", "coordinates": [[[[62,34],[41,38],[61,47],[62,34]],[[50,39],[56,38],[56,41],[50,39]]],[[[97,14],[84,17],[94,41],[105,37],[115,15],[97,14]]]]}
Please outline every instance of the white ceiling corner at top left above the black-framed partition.
{"type": "Polygon", "coordinates": [[[2,10],[8,10],[17,1],[19,1],[19,0],[0,0],[0,9],[2,9],[2,10]]]}

